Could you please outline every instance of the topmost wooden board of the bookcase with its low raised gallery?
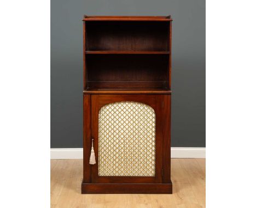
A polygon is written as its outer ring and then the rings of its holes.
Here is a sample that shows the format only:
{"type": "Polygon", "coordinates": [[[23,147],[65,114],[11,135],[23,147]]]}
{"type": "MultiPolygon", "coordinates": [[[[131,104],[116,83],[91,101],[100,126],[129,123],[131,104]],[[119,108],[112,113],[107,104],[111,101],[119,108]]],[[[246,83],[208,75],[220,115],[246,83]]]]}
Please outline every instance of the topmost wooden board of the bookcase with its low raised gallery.
{"type": "Polygon", "coordinates": [[[172,21],[169,16],[86,16],[83,21],[172,21]]]}

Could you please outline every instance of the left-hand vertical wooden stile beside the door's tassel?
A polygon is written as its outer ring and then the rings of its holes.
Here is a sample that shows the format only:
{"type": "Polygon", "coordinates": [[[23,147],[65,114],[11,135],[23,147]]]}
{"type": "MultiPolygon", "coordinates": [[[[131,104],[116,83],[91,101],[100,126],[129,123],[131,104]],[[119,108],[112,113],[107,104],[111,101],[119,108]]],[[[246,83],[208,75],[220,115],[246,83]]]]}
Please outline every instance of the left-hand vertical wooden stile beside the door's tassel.
{"type": "Polygon", "coordinates": [[[84,95],[84,183],[91,182],[90,149],[91,149],[91,95],[84,95]]]}

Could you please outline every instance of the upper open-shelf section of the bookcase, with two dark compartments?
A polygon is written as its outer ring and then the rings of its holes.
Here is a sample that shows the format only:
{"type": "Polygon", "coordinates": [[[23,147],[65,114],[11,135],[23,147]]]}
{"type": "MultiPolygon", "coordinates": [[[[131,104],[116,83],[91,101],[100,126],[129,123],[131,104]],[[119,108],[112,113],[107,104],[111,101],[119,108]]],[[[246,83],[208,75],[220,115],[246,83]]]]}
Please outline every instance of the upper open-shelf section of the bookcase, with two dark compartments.
{"type": "Polygon", "coordinates": [[[91,88],[171,89],[170,16],[85,15],[85,19],[95,20],[84,21],[85,91],[91,88]],[[129,21],[122,21],[124,18],[129,21]],[[119,21],[113,21],[115,19],[119,21]],[[135,21],[137,19],[147,21],[135,21]],[[168,21],[162,22],[162,19],[168,21]]]}

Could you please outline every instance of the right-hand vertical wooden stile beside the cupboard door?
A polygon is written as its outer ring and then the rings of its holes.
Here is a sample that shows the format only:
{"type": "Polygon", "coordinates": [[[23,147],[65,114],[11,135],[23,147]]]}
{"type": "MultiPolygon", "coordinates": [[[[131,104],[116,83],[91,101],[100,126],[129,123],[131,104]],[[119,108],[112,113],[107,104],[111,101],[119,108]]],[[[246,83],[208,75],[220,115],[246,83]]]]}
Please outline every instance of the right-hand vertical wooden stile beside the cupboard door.
{"type": "Polygon", "coordinates": [[[164,183],[171,182],[171,95],[164,95],[163,112],[165,117],[162,118],[162,135],[163,135],[163,174],[164,183]]]}

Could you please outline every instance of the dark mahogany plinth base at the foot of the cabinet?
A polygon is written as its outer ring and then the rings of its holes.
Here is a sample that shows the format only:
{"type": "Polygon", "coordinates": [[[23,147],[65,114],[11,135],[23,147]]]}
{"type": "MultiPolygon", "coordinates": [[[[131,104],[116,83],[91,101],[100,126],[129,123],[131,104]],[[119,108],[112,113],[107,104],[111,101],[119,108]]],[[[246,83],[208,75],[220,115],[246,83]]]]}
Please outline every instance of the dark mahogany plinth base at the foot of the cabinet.
{"type": "Polygon", "coordinates": [[[83,183],[82,194],[172,194],[171,183],[83,183]]]}

